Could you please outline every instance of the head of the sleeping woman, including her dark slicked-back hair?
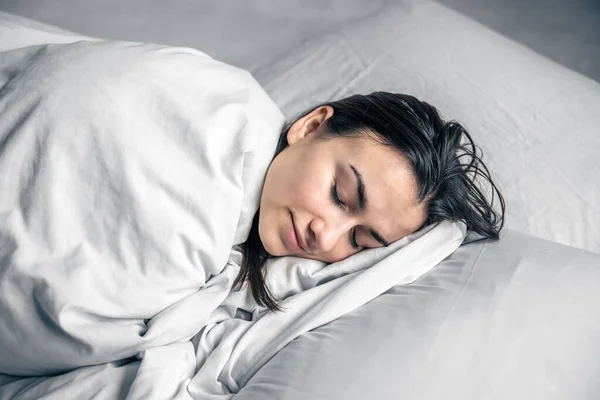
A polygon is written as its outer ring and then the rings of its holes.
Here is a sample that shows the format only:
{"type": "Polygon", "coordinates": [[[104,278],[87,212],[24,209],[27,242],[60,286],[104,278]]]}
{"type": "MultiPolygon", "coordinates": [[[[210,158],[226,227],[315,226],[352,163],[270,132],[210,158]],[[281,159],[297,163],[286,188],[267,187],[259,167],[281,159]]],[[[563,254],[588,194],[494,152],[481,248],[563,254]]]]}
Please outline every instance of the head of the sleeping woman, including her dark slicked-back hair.
{"type": "Polygon", "coordinates": [[[470,134],[435,107],[387,92],[325,103],[283,129],[236,286],[247,280],[277,310],[261,272],[268,257],[332,263],[444,220],[497,239],[504,208],[470,134]]]}

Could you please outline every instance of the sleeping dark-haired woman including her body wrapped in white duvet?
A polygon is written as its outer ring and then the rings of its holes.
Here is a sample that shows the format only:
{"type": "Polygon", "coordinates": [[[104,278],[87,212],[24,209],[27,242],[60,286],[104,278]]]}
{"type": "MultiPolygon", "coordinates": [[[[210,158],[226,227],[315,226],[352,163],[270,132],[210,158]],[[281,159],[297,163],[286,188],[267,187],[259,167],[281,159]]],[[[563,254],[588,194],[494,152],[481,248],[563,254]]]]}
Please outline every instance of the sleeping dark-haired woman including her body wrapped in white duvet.
{"type": "Polygon", "coordinates": [[[0,53],[0,115],[4,374],[189,343],[232,288],[278,310],[274,257],[334,263],[448,220],[502,227],[471,136],[409,95],[283,126],[247,72],[203,53],[79,41],[0,53]]]}

